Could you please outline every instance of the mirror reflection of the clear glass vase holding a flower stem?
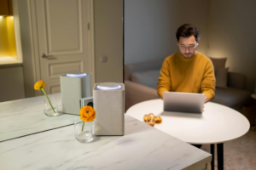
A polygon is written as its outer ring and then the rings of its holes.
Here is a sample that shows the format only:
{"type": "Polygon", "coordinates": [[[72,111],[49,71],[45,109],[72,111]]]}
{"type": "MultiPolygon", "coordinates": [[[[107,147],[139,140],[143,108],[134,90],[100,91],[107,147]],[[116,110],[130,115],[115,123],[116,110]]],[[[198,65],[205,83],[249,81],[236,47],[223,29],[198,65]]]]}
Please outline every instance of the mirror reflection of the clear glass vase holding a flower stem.
{"type": "Polygon", "coordinates": [[[44,114],[46,116],[59,116],[60,114],[58,113],[58,105],[57,105],[57,100],[55,99],[54,96],[48,96],[49,100],[44,97],[44,114]],[[49,104],[49,101],[51,105],[49,104]],[[51,107],[52,106],[52,107],[51,107]],[[55,112],[53,111],[53,109],[55,112]]]}

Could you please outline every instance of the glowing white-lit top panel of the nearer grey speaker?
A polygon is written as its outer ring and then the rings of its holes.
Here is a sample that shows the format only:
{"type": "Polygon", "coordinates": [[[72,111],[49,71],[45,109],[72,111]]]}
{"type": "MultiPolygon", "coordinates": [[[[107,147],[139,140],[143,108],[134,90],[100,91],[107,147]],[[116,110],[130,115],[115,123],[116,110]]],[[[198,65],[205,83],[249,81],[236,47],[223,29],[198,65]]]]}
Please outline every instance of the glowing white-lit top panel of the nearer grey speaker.
{"type": "Polygon", "coordinates": [[[104,90],[104,91],[113,91],[113,90],[125,90],[124,83],[117,82],[102,82],[96,83],[93,90],[104,90]]]}

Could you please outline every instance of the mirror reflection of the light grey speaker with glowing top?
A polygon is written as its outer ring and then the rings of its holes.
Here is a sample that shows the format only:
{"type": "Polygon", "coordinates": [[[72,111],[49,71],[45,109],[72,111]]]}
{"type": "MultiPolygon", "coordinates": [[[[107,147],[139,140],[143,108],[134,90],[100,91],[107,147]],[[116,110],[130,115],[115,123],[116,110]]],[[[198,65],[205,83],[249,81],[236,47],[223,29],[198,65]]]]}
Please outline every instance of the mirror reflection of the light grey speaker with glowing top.
{"type": "Polygon", "coordinates": [[[90,97],[90,73],[61,75],[61,99],[64,113],[79,115],[81,99],[90,97]]]}

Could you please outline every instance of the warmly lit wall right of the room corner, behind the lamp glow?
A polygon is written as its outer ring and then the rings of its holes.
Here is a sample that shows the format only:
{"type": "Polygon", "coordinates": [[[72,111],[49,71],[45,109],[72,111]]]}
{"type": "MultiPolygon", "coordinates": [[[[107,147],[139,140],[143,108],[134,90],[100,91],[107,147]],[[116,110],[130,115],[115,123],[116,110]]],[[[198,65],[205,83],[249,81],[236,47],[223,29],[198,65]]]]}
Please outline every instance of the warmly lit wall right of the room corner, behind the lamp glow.
{"type": "Polygon", "coordinates": [[[230,71],[247,76],[246,89],[256,80],[256,1],[211,0],[207,55],[227,57],[230,71]]]}

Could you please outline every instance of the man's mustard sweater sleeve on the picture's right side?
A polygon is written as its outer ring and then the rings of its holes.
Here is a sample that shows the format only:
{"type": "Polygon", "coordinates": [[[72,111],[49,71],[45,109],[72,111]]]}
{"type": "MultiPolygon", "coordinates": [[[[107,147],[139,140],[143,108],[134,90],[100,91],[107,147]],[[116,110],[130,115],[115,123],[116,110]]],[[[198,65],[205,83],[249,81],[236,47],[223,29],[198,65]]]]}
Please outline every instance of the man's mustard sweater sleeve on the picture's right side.
{"type": "Polygon", "coordinates": [[[201,92],[206,95],[205,102],[213,99],[215,96],[216,79],[214,76],[214,68],[212,61],[207,62],[204,77],[201,82],[201,92]]]}

